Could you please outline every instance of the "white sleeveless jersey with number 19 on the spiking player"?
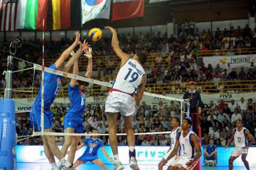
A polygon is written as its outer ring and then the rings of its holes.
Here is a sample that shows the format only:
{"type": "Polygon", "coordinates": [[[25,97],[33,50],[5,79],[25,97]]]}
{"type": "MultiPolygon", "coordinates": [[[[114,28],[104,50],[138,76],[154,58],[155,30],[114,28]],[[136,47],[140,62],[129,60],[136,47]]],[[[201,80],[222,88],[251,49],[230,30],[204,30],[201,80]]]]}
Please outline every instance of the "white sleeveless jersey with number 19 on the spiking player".
{"type": "Polygon", "coordinates": [[[142,65],[130,58],[120,67],[112,88],[133,94],[141,84],[144,74],[145,70],[142,65]]]}

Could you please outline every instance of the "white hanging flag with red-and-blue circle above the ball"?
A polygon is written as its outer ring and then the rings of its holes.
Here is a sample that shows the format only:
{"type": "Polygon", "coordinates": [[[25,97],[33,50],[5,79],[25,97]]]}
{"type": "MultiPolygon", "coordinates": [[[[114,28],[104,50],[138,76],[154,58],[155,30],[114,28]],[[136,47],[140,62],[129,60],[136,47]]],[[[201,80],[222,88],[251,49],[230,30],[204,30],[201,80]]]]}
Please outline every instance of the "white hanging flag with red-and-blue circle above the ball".
{"type": "Polygon", "coordinates": [[[110,0],[81,0],[82,23],[93,19],[110,19],[110,0]]]}

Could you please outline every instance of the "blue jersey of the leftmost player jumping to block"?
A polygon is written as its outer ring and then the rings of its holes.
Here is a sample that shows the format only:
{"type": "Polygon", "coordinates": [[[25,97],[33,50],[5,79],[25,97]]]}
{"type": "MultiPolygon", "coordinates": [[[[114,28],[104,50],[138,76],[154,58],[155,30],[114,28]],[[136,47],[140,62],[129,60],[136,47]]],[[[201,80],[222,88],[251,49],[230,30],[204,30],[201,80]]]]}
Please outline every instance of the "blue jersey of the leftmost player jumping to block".
{"type": "MultiPolygon", "coordinates": [[[[56,70],[55,64],[52,64],[49,68],[56,70]]],[[[45,72],[44,106],[46,110],[51,107],[55,97],[58,95],[58,91],[60,91],[61,79],[63,79],[62,76],[45,72]]],[[[41,91],[42,87],[40,87],[34,105],[41,106],[41,91]]]]}

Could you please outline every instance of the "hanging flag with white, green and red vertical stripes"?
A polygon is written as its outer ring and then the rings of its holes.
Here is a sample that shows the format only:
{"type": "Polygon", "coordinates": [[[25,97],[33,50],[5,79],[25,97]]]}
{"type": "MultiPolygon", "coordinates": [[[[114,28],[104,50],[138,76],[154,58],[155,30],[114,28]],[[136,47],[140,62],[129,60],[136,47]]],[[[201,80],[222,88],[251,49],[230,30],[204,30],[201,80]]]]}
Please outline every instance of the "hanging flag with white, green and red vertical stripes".
{"type": "Polygon", "coordinates": [[[43,29],[48,10],[48,0],[21,0],[17,6],[17,29],[43,29]]]}

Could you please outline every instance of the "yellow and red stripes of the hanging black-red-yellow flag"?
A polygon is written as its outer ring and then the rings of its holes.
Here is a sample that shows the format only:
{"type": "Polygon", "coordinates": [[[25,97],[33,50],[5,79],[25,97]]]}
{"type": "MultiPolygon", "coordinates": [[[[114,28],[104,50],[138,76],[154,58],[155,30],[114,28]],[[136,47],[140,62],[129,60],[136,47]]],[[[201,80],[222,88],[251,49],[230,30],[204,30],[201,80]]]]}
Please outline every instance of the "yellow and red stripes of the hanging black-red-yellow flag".
{"type": "Polygon", "coordinates": [[[70,28],[70,0],[52,0],[52,19],[54,30],[70,28]]]}

